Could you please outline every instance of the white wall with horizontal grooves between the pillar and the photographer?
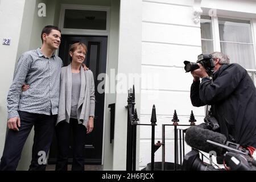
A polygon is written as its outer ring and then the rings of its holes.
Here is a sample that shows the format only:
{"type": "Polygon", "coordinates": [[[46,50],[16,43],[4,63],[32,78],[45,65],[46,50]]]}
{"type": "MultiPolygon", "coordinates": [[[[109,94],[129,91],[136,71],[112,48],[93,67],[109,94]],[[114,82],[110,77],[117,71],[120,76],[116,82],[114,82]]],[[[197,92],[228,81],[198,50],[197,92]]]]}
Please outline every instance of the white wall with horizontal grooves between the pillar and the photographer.
{"type": "MultiPolygon", "coordinates": [[[[200,23],[193,22],[193,1],[143,1],[142,3],[142,90],[141,122],[150,123],[155,104],[157,124],[155,143],[162,142],[162,124],[172,124],[176,109],[180,124],[189,124],[193,110],[203,120],[204,108],[192,106],[190,73],[184,60],[195,61],[201,53],[200,23]],[[153,75],[153,76],[152,76],[153,75]]],[[[151,129],[141,127],[139,166],[151,162],[151,129]]],[[[186,146],[186,151],[189,147],[186,146]]],[[[162,161],[162,148],[155,152],[162,161]]],[[[166,162],[174,162],[174,127],[166,127],[166,162]]]]}

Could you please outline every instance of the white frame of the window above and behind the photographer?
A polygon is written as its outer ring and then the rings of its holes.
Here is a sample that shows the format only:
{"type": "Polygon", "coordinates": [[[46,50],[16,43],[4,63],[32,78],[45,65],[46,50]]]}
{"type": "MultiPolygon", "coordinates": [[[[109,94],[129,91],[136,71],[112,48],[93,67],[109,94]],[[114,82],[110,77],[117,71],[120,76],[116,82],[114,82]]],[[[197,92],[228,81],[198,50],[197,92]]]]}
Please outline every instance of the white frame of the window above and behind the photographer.
{"type": "MultiPolygon", "coordinates": [[[[203,14],[209,16],[208,14],[203,14]]],[[[220,47],[220,33],[218,28],[218,17],[219,18],[229,18],[229,19],[241,19],[241,20],[249,20],[251,25],[251,36],[253,39],[253,50],[254,50],[254,64],[256,68],[256,19],[254,18],[241,18],[237,16],[225,16],[225,15],[217,15],[211,16],[211,27],[212,27],[212,39],[213,39],[213,51],[221,52],[220,47]]],[[[254,85],[256,85],[256,69],[246,69],[247,72],[251,73],[254,85]]]]}

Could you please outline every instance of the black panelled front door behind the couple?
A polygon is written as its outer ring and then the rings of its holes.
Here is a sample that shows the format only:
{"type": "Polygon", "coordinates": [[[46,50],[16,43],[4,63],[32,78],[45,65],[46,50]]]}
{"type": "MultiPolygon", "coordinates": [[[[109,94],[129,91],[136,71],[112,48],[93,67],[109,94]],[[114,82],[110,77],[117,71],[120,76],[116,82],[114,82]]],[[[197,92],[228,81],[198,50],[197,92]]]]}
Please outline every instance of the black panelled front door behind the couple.
{"type": "MultiPolygon", "coordinates": [[[[100,73],[106,72],[106,36],[72,36],[62,35],[59,49],[59,56],[63,60],[64,67],[69,61],[68,49],[76,42],[84,43],[87,46],[85,65],[93,72],[95,84],[95,118],[94,129],[87,135],[85,144],[85,164],[101,164],[102,159],[102,137],[103,137],[103,119],[104,119],[104,93],[98,93],[97,87],[101,82],[97,80],[100,73]]],[[[72,162],[72,134],[69,140],[69,162],[72,162]]],[[[53,139],[51,150],[49,152],[48,163],[54,164],[57,156],[56,137],[53,139]]]]}

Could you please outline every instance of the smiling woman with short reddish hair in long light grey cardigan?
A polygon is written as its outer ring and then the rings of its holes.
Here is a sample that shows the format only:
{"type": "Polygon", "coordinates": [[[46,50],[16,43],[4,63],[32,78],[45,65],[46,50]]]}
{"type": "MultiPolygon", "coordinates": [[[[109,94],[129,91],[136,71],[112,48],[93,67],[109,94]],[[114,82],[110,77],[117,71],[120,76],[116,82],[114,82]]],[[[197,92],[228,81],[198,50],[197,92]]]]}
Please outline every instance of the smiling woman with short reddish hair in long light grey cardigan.
{"type": "Polygon", "coordinates": [[[69,48],[71,64],[61,68],[59,112],[56,122],[58,156],[56,171],[67,171],[69,136],[73,130],[72,171],[84,171],[86,134],[93,130],[95,107],[92,71],[84,71],[81,64],[87,48],[75,43],[69,48]]]}

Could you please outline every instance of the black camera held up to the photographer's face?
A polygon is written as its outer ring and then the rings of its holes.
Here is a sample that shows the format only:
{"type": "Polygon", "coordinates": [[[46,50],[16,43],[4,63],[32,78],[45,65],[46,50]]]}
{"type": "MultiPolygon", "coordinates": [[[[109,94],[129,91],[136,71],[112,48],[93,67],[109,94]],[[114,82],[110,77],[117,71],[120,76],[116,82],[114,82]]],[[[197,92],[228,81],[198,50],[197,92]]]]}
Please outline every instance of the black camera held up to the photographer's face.
{"type": "Polygon", "coordinates": [[[201,64],[204,67],[208,75],[211,75],[213,73],[213,68],[215,67],[215,65],[214,65],[214,60],[212,59],[212,55],[210,54],[201,54],[197,56],[196,63],[184,61],[184,64],[185,64],[184,69],[186,73],[199,69],[199,65],[197,65],[197,63],[201,64]]]}

